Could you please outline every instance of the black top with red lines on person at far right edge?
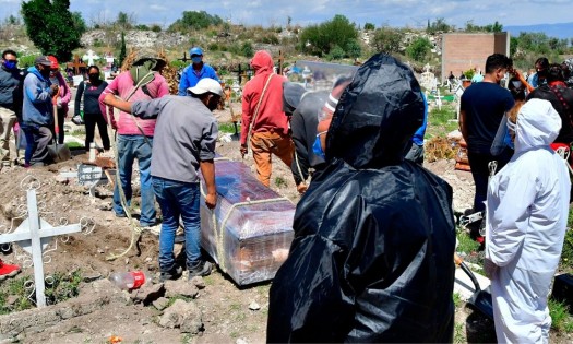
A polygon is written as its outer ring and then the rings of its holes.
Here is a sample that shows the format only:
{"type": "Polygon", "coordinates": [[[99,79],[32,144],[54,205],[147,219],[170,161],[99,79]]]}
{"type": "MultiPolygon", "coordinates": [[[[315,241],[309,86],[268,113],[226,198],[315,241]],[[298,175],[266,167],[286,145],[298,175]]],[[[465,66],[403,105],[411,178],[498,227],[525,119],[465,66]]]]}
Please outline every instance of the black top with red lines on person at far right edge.
{"type": "Polygon", "coordinates": [[[551,91],[551,88],[547,84],[535,88],[527,96],[527,100],[536,98],[551,102],[551,105],[561,117],[561,130],[559,131],[559,135],[553,142],[571,144],[573,142],[573,128],[571,127],[570,117],[573,115],[573,90],[564,86],[557,87],[563,96],[563,99],[568,103],[569,111],[565,109],[563,103],[558,98],[558,96],[553,93],[553,91],[551,91]]]}

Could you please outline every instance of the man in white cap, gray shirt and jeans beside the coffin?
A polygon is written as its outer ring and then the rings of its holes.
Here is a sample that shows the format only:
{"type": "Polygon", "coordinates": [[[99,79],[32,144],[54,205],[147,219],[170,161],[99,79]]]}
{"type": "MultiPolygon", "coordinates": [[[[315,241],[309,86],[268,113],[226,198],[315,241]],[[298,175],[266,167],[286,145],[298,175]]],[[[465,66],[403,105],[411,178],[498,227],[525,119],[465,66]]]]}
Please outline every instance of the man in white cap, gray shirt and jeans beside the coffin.
{"type": "Polygon", "coordinates": [[[220,84],[202,79],[188,90],[188,96],[165,96],[153,100],[124,102],[108,94],[104,103],[141,118],[157,118],[152,152],[152,182],[162,209],[159,235],[160,280],[177,280],[181,268],[175,262],[175,234],[179,217],[184,225],[189,277],[205,276],[212,264],[201,256],[200,185],[198,170],[206,185],[205,203],[217,203],[215,189],[215,141],[217,122],[212,111],[223,95],[220,84]]]}

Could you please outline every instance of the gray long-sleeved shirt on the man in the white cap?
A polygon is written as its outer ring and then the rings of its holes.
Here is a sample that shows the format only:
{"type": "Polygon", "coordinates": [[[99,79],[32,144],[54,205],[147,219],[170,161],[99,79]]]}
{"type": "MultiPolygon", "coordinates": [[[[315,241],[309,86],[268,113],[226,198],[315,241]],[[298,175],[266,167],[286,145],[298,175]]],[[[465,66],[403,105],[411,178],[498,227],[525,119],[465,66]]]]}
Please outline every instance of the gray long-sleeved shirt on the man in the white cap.
{"type": "Polygon", "coordinates": [[[152,176],[198,182],[199,162],[215,157],[217,122],[208,108],[191,96],[138,100],[133,115],[157,118],[153,135],[152,176]]]}

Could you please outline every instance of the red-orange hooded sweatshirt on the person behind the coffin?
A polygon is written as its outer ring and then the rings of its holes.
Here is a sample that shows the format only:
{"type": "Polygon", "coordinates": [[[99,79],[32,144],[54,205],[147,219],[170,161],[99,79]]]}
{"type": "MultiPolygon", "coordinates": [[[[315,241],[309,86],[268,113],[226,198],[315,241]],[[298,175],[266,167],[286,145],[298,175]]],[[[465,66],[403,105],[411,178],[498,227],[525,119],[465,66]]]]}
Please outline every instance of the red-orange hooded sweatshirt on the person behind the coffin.
{"type": "Polygon", "coordinates": [[[244,85],[242,92],[241,144],[247,143],[249,126],[268,78],[272,79],[264,92],[251,134],[264,131],[288,134],[288,118],[283,111],[283,83],[286,79],[273,73],[273,58],[265,50],[256,51],[251,60],[251,67],[254,69],[254,78],[244,85]]]}

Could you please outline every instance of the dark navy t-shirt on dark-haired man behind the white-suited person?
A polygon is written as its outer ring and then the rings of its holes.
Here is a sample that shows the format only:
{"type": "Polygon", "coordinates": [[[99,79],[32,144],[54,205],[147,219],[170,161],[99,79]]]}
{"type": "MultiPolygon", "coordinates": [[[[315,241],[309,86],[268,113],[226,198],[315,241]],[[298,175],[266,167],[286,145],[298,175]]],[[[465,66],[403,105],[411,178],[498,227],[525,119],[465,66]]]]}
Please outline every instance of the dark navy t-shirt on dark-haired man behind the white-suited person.
{"type": "Polygon", "coordinates": [[[464,91],[462,110],[466,114],[468,152],[490,153],[501,119],[514,104],[510,91],[494,83],[474,83],[464,91]]]}

